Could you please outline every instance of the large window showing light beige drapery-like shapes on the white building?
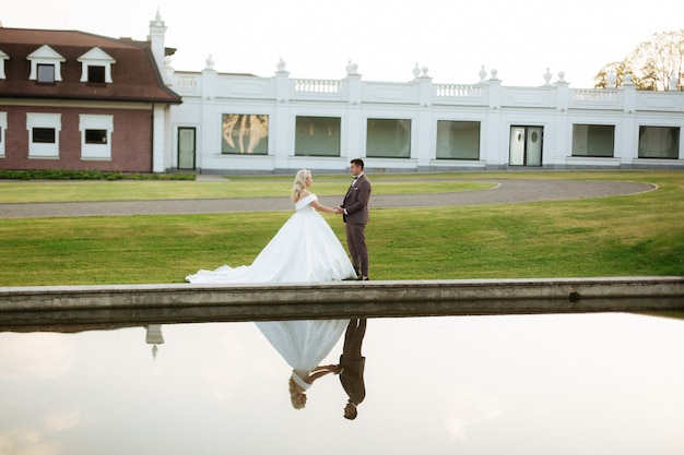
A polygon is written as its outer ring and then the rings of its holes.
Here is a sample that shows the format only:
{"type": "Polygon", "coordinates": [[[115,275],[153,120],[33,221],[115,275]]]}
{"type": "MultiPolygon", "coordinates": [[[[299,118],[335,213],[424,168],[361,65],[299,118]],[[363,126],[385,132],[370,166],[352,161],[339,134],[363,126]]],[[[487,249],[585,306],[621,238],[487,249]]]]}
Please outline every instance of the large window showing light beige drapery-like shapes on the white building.
{"type": "Polygon", "coordinates": [[[224,113],[221,153],[266,155],[269,152],[269,116],[224,113]]]}

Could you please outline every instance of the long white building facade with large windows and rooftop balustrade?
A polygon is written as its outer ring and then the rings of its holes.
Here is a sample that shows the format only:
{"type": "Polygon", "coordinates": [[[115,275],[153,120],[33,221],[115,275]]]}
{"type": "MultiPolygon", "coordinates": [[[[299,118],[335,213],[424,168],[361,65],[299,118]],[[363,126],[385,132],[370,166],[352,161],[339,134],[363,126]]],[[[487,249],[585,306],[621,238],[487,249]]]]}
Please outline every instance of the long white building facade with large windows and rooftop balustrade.
{"type": "Polygon", "coordinates": [[[272,77],[258,77],[217,73],[211,58],[201,72],[164,70],[184,103],[170,108],[155,171],[343,171],[356,157],[374,171],[684,168],[684,93],[676,91],[642,92],[629,82],[570,88],[563,73],[554,83],[547,73],[542,86],[514,87],[503,85],[496,70],[481,71],[475,84],[437,84],[417,68],[410,82],[374,82],[363,81],[352,64],[343,80],[295,80],[283,61],[272,77]],[[225,115],[239,116],[245,134],[261,141],[260,152],[249,153],[246,136],[240,149],[226,151],[225,115]],[[338,149],[325,156],[300,151],[300,118],[339,124],[338,149]],[[397,131],[397,141],[405,135],[406,143],[396,156],[369,153],[369,124],[378,119],[406,125],[397,131]],[[438,129],[460,122],[477,132],[476,151],[439,156],[438,129]]]}

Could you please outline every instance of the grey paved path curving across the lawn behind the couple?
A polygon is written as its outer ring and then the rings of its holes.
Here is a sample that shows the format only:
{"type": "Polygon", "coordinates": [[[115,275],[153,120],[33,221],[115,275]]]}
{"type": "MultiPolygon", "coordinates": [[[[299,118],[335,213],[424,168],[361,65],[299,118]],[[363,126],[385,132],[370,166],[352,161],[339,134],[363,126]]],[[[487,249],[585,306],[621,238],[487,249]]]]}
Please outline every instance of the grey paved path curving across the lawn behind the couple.
{"type": "MultiPolygon", "coordinates": [[[[373,195],[372,208],[431,207],[444,205],[511,204],[563,201],[636,194],[657,185],[632,181],[600,180],[484,180],[495,188],[457,193],[373,195]]],[[[320,196],[325,205],[338,205],[339,196],[320,196]]],[[[285,197],[1,203],[0,218],[45,218],[60,216],[170,215],[226,212],[288,212],[285,197]]]]}

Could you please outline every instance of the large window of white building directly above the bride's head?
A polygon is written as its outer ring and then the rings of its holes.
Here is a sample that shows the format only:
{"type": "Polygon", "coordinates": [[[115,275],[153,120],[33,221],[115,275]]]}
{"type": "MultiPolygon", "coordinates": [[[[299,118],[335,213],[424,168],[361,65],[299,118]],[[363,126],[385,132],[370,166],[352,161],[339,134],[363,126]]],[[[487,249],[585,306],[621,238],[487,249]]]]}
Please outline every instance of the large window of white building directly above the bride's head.
{"type": "Polygon", "coordinates": [[[340,156],[340,118],[297,117],[296,156],[340,156]]]}

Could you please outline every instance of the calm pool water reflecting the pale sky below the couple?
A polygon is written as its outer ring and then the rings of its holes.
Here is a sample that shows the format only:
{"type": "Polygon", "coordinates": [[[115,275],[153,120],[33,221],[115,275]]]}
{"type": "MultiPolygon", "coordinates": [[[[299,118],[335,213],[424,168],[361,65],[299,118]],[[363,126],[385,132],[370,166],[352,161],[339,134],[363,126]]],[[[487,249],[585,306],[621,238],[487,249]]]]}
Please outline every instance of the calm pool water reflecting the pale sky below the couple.
{"type": "Polygon", "coordinates": [[[161,328],[1,333],[0,454],[684,454],[684,320],[369,320],[354,421],[252,323],[161,328]]]}

